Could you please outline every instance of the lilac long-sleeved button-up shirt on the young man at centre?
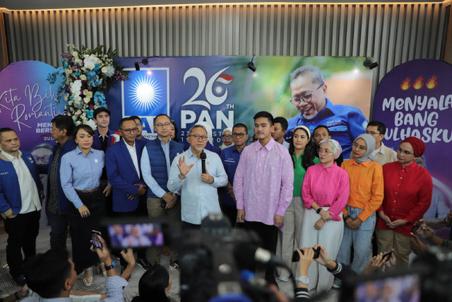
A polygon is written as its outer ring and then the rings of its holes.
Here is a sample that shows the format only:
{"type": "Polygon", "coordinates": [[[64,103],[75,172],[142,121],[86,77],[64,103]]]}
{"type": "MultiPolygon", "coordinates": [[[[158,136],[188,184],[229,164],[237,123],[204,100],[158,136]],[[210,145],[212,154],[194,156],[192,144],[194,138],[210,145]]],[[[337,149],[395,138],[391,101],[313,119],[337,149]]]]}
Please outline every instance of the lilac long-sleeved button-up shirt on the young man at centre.
{"type": "MultiPolygon", "coordinates": [[[[345,173],[347,174],[347,173],[345,173]]],[[[273,226],[274,216],[284,216],[292,201],[294,168],[289,151],[274,139],[246,146],[234,175],[237,209],[246,221],[273,226]]]]}

